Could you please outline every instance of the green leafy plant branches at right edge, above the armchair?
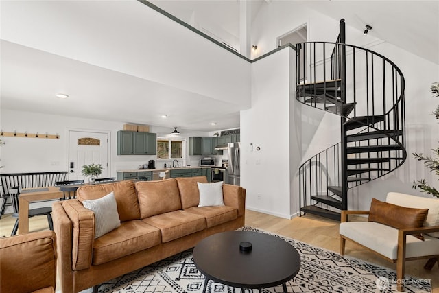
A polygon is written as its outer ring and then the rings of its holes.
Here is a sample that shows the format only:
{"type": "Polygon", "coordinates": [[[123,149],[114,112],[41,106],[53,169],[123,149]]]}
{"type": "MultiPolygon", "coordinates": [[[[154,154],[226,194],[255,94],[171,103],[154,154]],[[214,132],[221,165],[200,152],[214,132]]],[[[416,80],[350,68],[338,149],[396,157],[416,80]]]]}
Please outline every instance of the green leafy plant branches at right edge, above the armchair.
{"type": "MultiPolygon", "coordinates": [[[[439,82],[435,82],[431,84],[430,87],[431,93],[433,93],[434,97],[439,97],[439,82]]],[[[436,119],[439,119],[439,106],[436,108],[436,110],[433,112],[436,119]]],[[[438,176],[439,181],[439,146],[436,148],[436,150],[433,151],[433,156],[423,156],[423,154],[417,154],[416,152],[413,153],[416,159],[418,161],[423,161],[425,167],[430,169],[430,172],[434,172],[436,176],[438,176]]],[[[427,194],[431,194],[431,196],[436,196],[439,198],[439,191],[438,189],[432,187],[429,185],[425,179],[414,181],[413,188],[419,188],[421,192],[425,192],[427,194]]]]}

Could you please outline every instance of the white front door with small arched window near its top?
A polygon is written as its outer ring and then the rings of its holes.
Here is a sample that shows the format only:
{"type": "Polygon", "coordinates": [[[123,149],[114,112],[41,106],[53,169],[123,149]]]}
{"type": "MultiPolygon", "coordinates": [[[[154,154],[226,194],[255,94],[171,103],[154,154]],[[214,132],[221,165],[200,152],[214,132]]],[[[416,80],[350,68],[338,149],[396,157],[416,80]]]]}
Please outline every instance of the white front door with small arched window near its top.
{"type": "Polygon", "coordinates": [[[69,180],[84,179],[85,183],[88,182],[81,171],[83,165],[91,163],[104,167],[100,178],[110,176],[108,136],[108,132],[69,130],[69,180]]]}

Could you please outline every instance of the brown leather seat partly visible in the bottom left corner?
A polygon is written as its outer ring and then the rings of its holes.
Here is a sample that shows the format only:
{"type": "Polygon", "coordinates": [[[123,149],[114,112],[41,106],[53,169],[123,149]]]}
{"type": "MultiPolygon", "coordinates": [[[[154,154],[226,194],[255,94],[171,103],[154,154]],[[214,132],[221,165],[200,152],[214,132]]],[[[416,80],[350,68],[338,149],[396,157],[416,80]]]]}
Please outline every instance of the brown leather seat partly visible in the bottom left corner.
{"type": "Polygon", "coordinates": [[[0,239],[0,292],[55,292],[56,235],[40,231],[0,239]]]}

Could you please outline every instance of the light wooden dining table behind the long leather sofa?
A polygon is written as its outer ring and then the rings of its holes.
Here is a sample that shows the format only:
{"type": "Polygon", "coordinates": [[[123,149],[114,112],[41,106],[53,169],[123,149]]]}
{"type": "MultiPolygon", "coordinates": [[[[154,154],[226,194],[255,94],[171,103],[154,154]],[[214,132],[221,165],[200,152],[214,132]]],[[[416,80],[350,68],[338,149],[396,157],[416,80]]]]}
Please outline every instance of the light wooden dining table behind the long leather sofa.
{"type": "MultiPolygon", "coordinates": [[[[69,185],[73,186],[73,185],[69,185]]],[[[74,185],[80,187],[81,185],[74,185]]],[[[60,186],[23,188],[19,196],[19,234],[29,233],[29,205],[31,202],[64,198],[60,186]]]]}

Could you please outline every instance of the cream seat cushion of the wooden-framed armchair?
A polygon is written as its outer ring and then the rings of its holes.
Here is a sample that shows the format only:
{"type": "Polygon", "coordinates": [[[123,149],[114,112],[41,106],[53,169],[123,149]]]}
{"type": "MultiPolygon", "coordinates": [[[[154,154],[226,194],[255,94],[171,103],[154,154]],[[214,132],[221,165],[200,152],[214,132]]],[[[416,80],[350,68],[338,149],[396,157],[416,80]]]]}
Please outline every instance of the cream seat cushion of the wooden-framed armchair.
{"type": "MultiPolygon", "coordinates": [[[[340,234],[371,250],[396,259],[398,254],[398,229],[377,222],[344,222],[340,224],[340,234]]],[[[425,235],[422,241],[407,235],[406,257],[439,254],[439,239],[425,235]]]]}

